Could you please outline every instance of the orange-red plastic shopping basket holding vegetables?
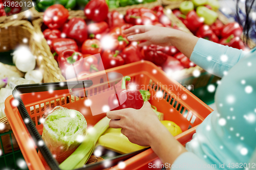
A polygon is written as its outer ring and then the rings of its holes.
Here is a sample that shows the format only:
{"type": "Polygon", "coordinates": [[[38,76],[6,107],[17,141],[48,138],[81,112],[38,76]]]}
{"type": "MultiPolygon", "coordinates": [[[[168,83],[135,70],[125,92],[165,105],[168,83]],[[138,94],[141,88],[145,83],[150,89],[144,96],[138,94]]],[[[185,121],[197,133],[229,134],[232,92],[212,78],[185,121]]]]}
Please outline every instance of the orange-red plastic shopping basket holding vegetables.
{"type": "MultiPolygon", "coordinates": [[[[150,102],[157,107],[158,111],[164,113],[164,120],[171,120],[180,126],[183,133],[177,135],[176,139],[182,144],[191,140],[193,134],[196,132],[196,127],[212,112],[212,109],[194,94],[175,80],[167,78],[165,73],[151,62],[139,61],[111,68],[106,70],[106,72],[118,72],[123,76],[130,76],[132,78],[130,83],[136,84],[138,89],[146,87],[153,94],[152,96],[161,92],[162,98],[152,98],[150,102]]],[[[100,75],[100,72],[94,73],[94,75],[97,74],[100,75]]],[[[88,75],[87,77],[90,76],[88,75]]],[[[94,90],[100,91],[97,88],[94,88],[94,90]]],[[[79,97],[73,96],[74,100],[71,100],[72,96],[68,90],[64,91],[64,93],[61,91],[59,94],[51,93],[50,91],[37,92],[36,95],[40,96],[38,100],[37,96],[31,97],[33,95],[33,92],[29,92],[20,94],[20,97],[40,134],[42,133],[43,126],[39,123],[39,119],[55,106],[61,105],[69,109],[78,110],[81,113],[90,112],[90,108],[84,110],[84,106],[81,107],[86,98],[79,95],[79,97]]],[[[29,169],[45,169],[37,155],[34,145],[31,144],[30,134],[17,107],[13,106],[13,101],[13,96],[9,96],[5,102],[5,111],[20,150],[24,155],[29,169]]],[[[88,126],[93,126],[104,116],[105,114],[95,116],[85,115],[85,118],[88,126]]],[[[157,155],[152,149],[149,149],[124,161],[124,169],[145,169],[148,163],[156,159],[157,155]]],[[[120,169],[118,166],[114,166],[113,168],[120,169]]]]}

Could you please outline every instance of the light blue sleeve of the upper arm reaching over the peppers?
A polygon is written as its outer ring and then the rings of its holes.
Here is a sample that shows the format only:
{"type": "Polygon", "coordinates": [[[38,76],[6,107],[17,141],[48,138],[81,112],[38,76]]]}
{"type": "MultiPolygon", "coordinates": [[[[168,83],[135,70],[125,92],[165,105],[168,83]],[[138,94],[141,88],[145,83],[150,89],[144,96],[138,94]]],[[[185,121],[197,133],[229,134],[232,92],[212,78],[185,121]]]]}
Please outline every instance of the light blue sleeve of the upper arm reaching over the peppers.
{"type": "Polygon", "coordinates": [[[218,77],[246,55],[246,52],[199,38],[190,60],[218,77]]]}

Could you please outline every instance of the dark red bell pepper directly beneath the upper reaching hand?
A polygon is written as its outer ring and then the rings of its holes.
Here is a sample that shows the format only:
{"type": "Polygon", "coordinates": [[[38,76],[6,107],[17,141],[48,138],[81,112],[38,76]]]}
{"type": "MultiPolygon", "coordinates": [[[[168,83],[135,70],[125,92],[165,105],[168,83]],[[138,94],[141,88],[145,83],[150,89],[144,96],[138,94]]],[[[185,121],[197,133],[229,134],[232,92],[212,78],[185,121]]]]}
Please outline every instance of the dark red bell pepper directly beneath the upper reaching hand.
{"type": "Polygon", "coordinates": [[[145,60],[151,61],[156,65],[163,64],[168,55],[164,53],[165,47],[159,45],[149,45],[143,47],[142,54],[144,54],[145,60]]]}

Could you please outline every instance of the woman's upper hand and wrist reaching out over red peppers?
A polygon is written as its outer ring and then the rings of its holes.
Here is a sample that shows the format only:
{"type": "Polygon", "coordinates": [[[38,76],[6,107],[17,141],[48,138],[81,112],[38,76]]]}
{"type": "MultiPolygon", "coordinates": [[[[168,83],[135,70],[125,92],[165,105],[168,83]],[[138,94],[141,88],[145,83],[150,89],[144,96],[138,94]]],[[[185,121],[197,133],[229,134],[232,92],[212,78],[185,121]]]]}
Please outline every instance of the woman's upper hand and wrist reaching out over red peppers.
{"type": "Polygon", "coordinates": [[[190,58],[199,39],[192,34],[180,30],[151,25],[133,26],[124,30],[123,33],[128,35],[127,39],[130,41],[146,40],[145,42],[139,43],[139,46],[150,44],[160,46],[174,45],[188,58],[190,58]]]}

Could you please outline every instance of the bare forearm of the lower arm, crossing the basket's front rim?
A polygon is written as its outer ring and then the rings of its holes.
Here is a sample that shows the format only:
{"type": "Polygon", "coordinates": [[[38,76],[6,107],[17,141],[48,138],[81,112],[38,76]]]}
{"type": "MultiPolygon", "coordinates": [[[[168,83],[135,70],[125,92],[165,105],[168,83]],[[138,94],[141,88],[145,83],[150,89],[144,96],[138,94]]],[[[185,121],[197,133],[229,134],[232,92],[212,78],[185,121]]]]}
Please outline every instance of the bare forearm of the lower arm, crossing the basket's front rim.
{"type": "Polygon", "coordinates": [[[187,152],[165,127],[158,128],[151,136],[151,148],[163,164],[172,165],[182,153],[187,152]]]}

